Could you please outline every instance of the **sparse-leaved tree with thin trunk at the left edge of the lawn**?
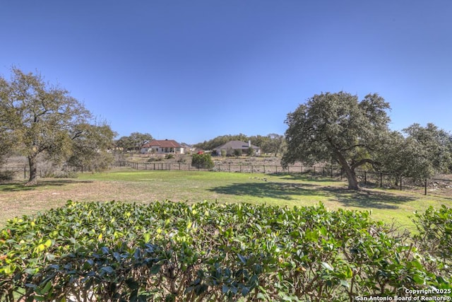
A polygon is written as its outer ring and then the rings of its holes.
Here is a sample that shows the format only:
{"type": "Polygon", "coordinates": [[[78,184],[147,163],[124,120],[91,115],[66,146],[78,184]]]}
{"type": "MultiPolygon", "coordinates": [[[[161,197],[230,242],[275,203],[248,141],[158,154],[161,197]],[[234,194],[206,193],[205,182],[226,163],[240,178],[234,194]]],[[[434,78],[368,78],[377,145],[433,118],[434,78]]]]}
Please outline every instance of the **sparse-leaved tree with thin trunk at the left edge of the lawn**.
{"type": "Polygon", "coordinates": [[[83,134],[76,127],[87,123],[91,115],[64,88],[44,83],[40,74],[12,68],[11,81],[0,81],[1,115],[17,139],[16,147],[28,158],[28,185],[32,185],[37,180],[37,156],[45,153],[61,159],[69,155],[73,139],[83,134]]]}

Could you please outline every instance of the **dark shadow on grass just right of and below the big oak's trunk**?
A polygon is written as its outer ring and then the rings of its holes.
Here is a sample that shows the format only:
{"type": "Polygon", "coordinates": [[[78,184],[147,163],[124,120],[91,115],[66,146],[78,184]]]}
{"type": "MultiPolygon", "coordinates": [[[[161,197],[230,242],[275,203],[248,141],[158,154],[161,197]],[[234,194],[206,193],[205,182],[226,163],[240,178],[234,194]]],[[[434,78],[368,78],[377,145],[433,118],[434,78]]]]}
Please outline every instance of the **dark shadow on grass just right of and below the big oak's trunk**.
{"type": "Polygon", "coordinates": [[[360,207],[364,209],[398,209],[399,204],[416,200],[415,197],[400,196],[390,192],[380,192],[371,189],[360,191],[347,190],[338,187],[323,187],[331,196],[345,207],[360,207]]]}

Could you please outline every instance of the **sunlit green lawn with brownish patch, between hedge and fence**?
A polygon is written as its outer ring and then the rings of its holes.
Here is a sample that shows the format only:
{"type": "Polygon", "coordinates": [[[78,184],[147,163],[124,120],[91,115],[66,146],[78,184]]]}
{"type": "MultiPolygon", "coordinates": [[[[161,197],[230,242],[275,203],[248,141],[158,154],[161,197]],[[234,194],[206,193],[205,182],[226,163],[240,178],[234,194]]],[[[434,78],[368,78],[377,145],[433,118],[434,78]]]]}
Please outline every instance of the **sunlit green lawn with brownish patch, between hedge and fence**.
{"type": "Polygon", "coordinates": [[[328,209],[371,210],[372,217],[415,231],[413,211],[441,204],[451,207],[451,197],[424,196],[398,191],[346,190],[347,184],[308,175],[265,175],[200,171],[115,170],[84,173],[76,179],[41,179],[36,187],[22,182],[0,184],[0,227],[7,219],[34,214],[74,201],[124,202],[249,202],[280,206],[311,206],[323,202],[328,209]]]}

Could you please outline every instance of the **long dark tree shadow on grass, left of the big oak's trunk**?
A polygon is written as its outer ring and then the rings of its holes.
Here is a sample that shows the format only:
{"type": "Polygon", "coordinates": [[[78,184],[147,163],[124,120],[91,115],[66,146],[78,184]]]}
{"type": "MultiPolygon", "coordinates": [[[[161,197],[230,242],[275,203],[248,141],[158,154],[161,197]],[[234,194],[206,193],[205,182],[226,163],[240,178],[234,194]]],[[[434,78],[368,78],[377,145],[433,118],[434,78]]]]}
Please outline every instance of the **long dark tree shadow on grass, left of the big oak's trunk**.
{"type": "Polygon", "coordinates": [[[324,192],[315,190],[315,187],[317,186],[293,182],[248,182],[213,187],[209,191],[228,195],[250,195],[284,200],[295,200],[297,196],[311,196],[312,194],[326,196],[326,194],[323,194],[324,192]]]}

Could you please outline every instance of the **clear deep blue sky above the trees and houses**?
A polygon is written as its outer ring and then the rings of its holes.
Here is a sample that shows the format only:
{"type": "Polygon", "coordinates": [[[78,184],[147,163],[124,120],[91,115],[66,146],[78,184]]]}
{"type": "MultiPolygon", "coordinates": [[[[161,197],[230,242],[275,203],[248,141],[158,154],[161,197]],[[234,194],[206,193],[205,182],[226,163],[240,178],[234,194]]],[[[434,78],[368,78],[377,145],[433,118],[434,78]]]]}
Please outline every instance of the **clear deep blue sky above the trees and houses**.
{"type": "Polygon", "coordinates": [[[0,0],[0,74],[59,83],[119,136],[284,134],[321,92],[452,130],[450,0],[0,0]]]}

